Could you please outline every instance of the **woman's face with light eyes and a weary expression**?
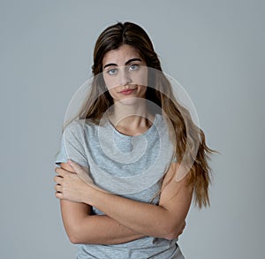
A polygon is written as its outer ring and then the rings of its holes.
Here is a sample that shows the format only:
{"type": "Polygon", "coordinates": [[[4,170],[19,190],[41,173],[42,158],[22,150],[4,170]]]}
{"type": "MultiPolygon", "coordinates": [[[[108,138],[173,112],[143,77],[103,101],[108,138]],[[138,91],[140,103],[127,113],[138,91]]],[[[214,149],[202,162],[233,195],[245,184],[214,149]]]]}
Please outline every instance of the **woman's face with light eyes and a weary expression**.
{"type": "Polygon", "coordinates": [[[148,67],[137,50],[122,45],[103,57],[103,78],[114,103],[134,104],[144,98],[148,85],[148,67]]]}

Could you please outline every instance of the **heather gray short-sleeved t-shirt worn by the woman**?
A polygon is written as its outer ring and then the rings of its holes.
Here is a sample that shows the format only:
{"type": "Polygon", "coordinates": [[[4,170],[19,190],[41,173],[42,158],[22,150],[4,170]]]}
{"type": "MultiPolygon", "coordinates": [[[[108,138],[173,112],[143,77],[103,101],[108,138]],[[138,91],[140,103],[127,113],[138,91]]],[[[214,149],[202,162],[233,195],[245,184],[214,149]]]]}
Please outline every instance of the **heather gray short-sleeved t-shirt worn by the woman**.
{"type": "MultiPolygon", "coordinates": [[[[135,201],[158,204],[173,153],[162,115],[156,114],[148,131],[136,136],[119,133],[109,120],[99,126],[89,119],[75,120],[64,130],[56,164],[72,159],[88,168],[97,186],[135,201]]],[[[77,258],[183,259],[177,241],[145,237],[117,245],[80,244],[77,258]]]]}

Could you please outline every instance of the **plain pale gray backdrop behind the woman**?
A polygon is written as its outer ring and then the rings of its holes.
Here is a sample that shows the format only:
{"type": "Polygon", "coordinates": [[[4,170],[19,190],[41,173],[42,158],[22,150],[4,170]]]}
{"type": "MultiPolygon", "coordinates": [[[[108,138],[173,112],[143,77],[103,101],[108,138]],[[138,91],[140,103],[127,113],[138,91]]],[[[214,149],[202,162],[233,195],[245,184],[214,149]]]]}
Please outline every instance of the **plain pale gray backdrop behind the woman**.
{"type": "Polygon", "coordinates": [[[1,1],[0,257],[74,258],[54,197],[64,113],[102,29],[144,27],[191,96],[213,156],[211,208],[190,209],[187,259],[264,258],[264,1],[1,1]]]}

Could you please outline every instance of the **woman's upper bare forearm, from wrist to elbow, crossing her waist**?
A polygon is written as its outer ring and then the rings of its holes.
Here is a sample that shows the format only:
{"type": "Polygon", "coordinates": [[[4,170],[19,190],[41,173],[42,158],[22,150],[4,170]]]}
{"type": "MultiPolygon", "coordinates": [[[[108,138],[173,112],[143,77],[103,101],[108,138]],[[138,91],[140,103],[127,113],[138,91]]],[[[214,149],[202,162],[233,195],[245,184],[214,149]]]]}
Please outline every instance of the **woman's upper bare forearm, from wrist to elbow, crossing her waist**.
{"type": "Polygon", "coordinates": [[[117,220],[121,225],[125,225],[134,232],[141,232],[143,235],[168,238],[170,233],[177,229],[176,217],[178,216],[171,219],[170,212],[161,206],[135,202],[97,190],[92,192],[87,202],[117,220]]]}

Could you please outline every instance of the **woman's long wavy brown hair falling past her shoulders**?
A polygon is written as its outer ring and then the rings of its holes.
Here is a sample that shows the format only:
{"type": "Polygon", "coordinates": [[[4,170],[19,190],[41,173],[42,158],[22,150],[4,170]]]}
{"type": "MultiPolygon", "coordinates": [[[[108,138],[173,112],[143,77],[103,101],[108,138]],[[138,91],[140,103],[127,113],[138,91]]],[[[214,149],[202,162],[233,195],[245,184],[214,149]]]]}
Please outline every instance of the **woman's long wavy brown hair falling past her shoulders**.
{"type": "Polygon", "coordinates": [[[193,187],[195,204],[199,208],[209,205],[208,186],[211,170],[208,158],[213,150],[208,148],[204,133],[193,123],[189,111],[174,98],[170,81],[163,74],[153,44],[148,34],[138,25],[131,22],[118,22],[106,28],[98,37],[92,66],[94,74],[92,88],[77,117],[89,118],[95,124],[99,124],[104,112],[113,104],[113,99],[106,91],[102,77],[102,59],[108,51],[117,50],[123,44],[137,50],[147,66],[152,68],[148,71],[148,85],[155,87],[147,88],[146,98],[161,107],[170,119],[173,134],[177,140],[175,155],[178,163],[184,160],[193,162],[187,182],[193,187]]]}

